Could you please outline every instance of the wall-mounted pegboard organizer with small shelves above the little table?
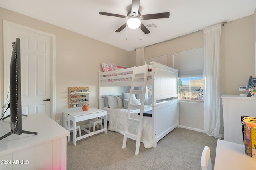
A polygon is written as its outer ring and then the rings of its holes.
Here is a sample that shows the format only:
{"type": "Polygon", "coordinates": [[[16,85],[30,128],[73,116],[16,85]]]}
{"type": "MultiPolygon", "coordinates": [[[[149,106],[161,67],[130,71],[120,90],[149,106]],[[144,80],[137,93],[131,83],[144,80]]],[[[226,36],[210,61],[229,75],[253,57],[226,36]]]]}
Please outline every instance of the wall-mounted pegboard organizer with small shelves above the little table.
{"type": "Polygon", "coordinates": [[[89,105],[89,87],[68,87],[69,108],[89,105]]]}

